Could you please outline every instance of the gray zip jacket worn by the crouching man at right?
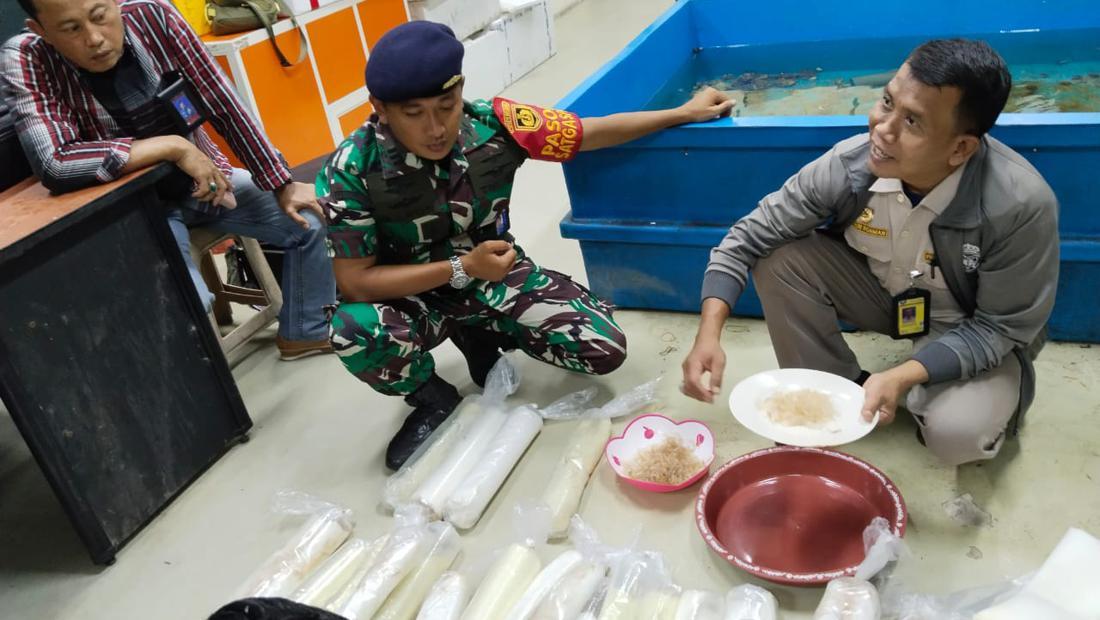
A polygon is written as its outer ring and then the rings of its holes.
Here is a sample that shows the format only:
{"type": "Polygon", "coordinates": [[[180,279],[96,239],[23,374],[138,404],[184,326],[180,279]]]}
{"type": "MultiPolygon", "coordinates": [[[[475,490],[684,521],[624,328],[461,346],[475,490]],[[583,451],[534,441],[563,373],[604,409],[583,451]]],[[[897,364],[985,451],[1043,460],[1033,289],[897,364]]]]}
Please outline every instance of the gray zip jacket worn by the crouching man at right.
{"type": "MultiPolygon", "coordinates": [[[[730,226],[711,252],[703,299],[716,297],[733,308],[759,258],[815,229],[843,234],[871,197],[869,152],[866,133],[837,143],[730,226]]],[[[1023,368],[1023,413],[1034,398],[1032,361],[1046,342],[1058,283],[1054,192],[1020,154],[986,136],[930,234],[967,319],[914,358],[927,368],[930,383],[941,383],[974,377],[1014,353],[1023,368]]]]}

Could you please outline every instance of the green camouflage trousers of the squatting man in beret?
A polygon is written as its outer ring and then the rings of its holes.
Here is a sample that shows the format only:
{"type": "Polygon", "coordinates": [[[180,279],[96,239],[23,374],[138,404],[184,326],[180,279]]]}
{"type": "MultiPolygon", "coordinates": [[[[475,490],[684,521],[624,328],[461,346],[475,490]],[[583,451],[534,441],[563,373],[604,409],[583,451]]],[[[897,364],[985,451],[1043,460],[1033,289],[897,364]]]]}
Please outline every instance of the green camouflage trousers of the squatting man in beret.
{"type": "Polygon", "coordinates": [[[603,375],[626,359],[626,336],[610,307],[526,257],[499,283],[341,303],[331,340],[349,372],[382,394],[400,396],[428,380],[436,369],[430,351],[459,326],[507,334],[531,357],[578,373],[603,375]]]}

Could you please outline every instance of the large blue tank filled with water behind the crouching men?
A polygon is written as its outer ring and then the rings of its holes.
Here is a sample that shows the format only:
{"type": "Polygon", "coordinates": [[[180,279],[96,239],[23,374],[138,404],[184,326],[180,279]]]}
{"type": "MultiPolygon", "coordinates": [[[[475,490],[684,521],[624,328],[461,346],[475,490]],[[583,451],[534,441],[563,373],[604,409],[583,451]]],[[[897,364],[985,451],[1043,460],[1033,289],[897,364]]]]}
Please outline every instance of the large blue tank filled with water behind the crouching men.
{"type": "MultiPolygon", "coordinates": [[[[581,242],[592,288],[625,308],[697,311],[710,250],[729,224],[867,131],[867,110],[913,47],[967,36],[989,41],[1013,73],[992,134],[1027,157],[1060,202],[1052,334],[1100,342],[1100,2],[840,4],[681,0],[560,102],[582,115],[653,109],[702,84],[738,102],[729,119],[565,165],[572,211],[561,231],[581,242]]],[[[735,310],[760,315],[751,290],[735,310]]]]}

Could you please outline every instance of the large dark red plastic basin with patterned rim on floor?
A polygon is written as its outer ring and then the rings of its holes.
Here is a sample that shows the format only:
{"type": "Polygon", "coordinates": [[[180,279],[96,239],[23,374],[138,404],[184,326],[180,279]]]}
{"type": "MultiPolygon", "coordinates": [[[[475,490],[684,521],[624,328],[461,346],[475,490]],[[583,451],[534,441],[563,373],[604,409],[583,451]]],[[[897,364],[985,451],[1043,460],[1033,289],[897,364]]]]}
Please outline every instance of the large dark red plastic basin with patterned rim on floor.
{"type": "Polygon", "coordinates": [[[905,501],[890,478],[855,456],[770,447],[723,465],[703,485],[695,520],[733,565],[777,584],[816,586],[850,576],[876,517],[905,532],[905,501]]]}

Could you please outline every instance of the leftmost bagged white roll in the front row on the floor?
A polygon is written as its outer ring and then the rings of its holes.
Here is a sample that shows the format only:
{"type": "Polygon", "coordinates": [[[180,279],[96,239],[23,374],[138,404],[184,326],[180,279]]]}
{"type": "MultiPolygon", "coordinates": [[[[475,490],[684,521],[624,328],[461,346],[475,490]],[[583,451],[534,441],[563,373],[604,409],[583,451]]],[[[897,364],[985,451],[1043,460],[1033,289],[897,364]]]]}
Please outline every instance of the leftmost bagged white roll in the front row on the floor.
{"type": "Polygon", "coordinates": [[[256,568],[237,598],[292,596],[309,572],[332,555],[355,528],[351,509],[299,491],[275,494],[274,510],[309,518],[279,551],[256,568]]]}

